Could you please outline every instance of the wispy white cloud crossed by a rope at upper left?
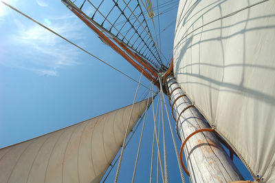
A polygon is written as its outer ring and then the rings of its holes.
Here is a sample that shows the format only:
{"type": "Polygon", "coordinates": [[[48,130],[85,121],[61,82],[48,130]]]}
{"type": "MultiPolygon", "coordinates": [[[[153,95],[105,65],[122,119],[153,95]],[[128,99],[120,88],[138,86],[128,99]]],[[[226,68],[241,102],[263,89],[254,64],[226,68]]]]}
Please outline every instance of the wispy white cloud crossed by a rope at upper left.
{"type": "MultiPolygon", "coordinates": [[[[20,21],[14,22],[17,32],[12,36],[10,43],[14,50],[21,51],[21,61],[16,59],[17,63],[12,63],[12,67],[28,69],[39,75],[58,76],[58,68],[80,64],[77,61],[80,50],[73,45],[39,25],[27,27],[20,21]]],[[[44,24],[69,40],[80,42],[84,39],[81,33],[83,25],[74,18],[48,18],[44,24]]]]}

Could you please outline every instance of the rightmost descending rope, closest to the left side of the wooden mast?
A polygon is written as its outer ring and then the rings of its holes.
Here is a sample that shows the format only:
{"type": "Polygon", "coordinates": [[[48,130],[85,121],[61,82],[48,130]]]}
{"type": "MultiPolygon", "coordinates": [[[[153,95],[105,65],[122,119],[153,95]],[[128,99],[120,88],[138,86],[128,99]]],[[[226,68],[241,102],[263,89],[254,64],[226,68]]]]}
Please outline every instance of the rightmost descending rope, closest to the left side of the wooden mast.
{"type": "MultiPolygon", "coordinates": [[[[162,86],[162,80],[160,80],[159,78],[159,85],[162,86]]],[[[162,91],[162,87],[160,87],[160,93],[162,95],[162,98],[164,99],[164,92],[162,91]]],[[[180,162],[180,156],[179,156],[179,153],[177,151],[177,144],[176,144],[176,141],[175,141],[175,136],[174,136],[174,133],[173,133],[173,129],[172,129],[172,126],[171,126],[171,121],[170,121],[170,118],[169,118],[169,114],[168,114],[168,109],[167,109],[167,105],[166,105],[166,102],[164,100],[164,105],[165,105],[165,109],[166,109],[166,115],[167,115],[167,118],[168,118],[168,122],[169,122],[169,127],[170,127],[170,131],[171,131],[171,136],[172,136],[172,139],[173,139],[173,144],[174,144],[174,148],[175,148],[175,153],[176,153],[176,156],[177,156],[177,164],[179,166],[179,173],[181,175],[181,181],[182,182],[185,182],[184,180],[184,172],[182,171],[181,169],[181,162],[180,162]]]]}

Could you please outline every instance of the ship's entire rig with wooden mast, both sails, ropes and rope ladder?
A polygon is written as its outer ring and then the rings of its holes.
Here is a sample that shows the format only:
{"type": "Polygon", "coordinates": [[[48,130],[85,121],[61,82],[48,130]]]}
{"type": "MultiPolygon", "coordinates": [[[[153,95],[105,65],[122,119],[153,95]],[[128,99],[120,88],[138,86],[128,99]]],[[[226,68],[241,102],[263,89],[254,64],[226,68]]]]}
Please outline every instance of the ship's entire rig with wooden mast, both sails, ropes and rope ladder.
{"type": "Polygon", "coordinates": [[[138,85],[132,105],[0,149],[0,182],[105,182],[116,163],[112,181],[120,182],[127,136],[135,132],[135,124],[144,118],[134,182],[151,105],[150,182],[155,182],[155,161],[156,182],[159,177],[162,182],[169,182],[170,178],[165,113],[181,182],[242,181],[234,157],[243,162],[254,182],[275,182],[274,1],[179,1],[173,56],[169,61],[161,49],[161,30],[154,18],[159,23],[160,14],[173,10],[173,2],[157,1],[154,7],[151,0],[62,0],[104,44],[140,72],[138,81],[9,3],[1,3],[138,85]],[[159,12],[159,8],[168,5],[172,9],[159,12]],[[151,82],[150,88],[142,84],[142,76],[151,82]],[[140,85],[149,89],[148,97],[146,94],[136,102],[140,85]]]}

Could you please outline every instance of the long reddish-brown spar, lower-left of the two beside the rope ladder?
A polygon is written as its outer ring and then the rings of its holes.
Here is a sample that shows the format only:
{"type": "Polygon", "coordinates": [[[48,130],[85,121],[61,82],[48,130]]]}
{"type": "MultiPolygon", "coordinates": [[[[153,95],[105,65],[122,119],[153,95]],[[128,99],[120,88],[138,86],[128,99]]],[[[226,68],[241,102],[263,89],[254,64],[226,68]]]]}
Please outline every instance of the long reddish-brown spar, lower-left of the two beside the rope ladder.
{"type": "MultiPolygon", "coordinates": [[[[67,6],[69,6],[69,5],[67,5],[67,6]]],[[[117,45],[115,45],[115,43],[113,43],[113,41],[111,41],[109,38],[107,38],[107,36],[105,36],[102,32],[100,32],[100,30],[98,30],[98,28],[96,28],[96,26],[94,26],[90,21],[88,21],[85,17],[83,17],[82,14],[80,14],[77,10],[74,10],[74,8],[72,8],[72,7],[69,7],[69,9],[74,14],[76,14],[76,16],[80,20],[82,20],[89,28],[91,28],[91,30],[93,30],[96,34],[98,34],[98,36],[100,37],[100,39],[102,39],[102,41],[104,41],[109,46],[111,46],[113,48],[113,50],[115,50],[115,52],[118,52],[118,54],[120,54],[123,58],[125,58],[126,61],[128,61],[131,65],[133,65],[133,67],[135,67],[135,69],[137,69],[139,72],[142,72],[142,70],[143,70],[143,75],[146,78],[148,78],[148,80],[152,80],[153,83],[157,83],[157,80],[151,74],[149,74],[140,65],[135,63],[135,61],[133,61],[133,59],[130,56],[125,54],[117,45]]]]}

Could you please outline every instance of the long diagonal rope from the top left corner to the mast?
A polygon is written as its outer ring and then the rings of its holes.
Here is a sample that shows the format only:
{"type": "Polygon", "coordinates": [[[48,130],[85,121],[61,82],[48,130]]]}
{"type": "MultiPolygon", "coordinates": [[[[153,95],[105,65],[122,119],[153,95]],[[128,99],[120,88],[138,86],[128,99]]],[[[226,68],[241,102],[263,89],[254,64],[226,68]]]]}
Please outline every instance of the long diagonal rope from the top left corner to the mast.
{"type": "MultiPolygon", "coordinates": [[[[83,52],[86,52],[87,54],[89,54],[90,56],[93,56],[94,58],[98,59],[98,61],[104,63],[105,65],[108,65],[109,67],[111,67],[112,69],[114,69],[115,71],[119,72],[120,74],[126,76],[127,78],[135,81],[135,83],[139,83],[137,80],[135,80],[134,78],[132,78],[131,76],[128,76],[127,74],[125,74],[124,72],[121,72],[119,69],[113,67],[112,65],[110,65],[109,63],[102,61],[102,59],[98,58],[97,56],[95,56],[94,54],[91,54],[91,52],[88,52],[86,50],[84,50],[82,47],[76,45],[75,43],[73,43],[72,41],[69,41],[68,39],[66,39],[65,37],[61,36],[60,34],[54,32],[53,30],[51,30],[50,28],[47,28],[45,25],[43,25],[42,23],[39,23],[38,21],[32,19],[31,17],[29,17],[27,14],[24,14],[23,12],[21,12],[20,10],[17,10],[17,8],[14,8],[13,6],[10,6],[10,4],[5,3],[4,1],[1,1],[1,3],[3,3],[5,6],[8,6],[9,8],[11,8],[12,10],[18,12],[19,14],[23,15],[24,17],[26,17],[27,19],[30,19],[31,21],[33,21],[34,23],[37,23],[38,25],[40,25],[42,28],[45,28],[46,30],[49,30],[50,32],[52,32],[53,34],[56,34],[56,36],[60,37],[61,39],[67,41],[68,43],[71,43],[72,45],[74,45],[75,47],[78,47],[80,50],[83,50],[83,52]]],[[[142,85],[143,87],[146,87],[145,85],[143,85],[142,83],[140,83],[140,85],[142,85]]],[[[147,89],[149,89],[148,87],[146,87],[147,89]]]]}

